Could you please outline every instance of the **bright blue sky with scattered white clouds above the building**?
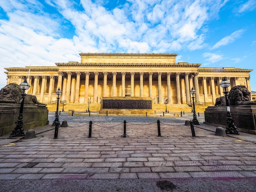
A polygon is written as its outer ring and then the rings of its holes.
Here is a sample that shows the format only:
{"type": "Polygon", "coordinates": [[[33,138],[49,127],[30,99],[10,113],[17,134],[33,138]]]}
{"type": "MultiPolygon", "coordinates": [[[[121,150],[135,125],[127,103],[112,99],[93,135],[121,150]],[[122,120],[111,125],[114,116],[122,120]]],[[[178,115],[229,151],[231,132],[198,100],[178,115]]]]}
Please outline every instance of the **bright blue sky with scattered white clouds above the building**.
{"type": "Polygon", "coordinates": [[[254,69],[256,0],[2,0],[4,67],[55,66],[79,53],[176,53],[176,62],[254,69]],[[126,40],[129,39],[128,42],[126,40]]]}

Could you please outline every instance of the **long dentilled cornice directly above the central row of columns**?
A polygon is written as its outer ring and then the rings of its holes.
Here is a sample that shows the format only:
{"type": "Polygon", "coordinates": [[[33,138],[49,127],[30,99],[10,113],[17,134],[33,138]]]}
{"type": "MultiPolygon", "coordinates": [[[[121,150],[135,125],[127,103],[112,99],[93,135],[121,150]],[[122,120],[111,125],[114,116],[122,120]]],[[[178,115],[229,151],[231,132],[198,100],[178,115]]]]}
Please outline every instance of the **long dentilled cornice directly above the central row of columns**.
{"type": "Polygon", "coordinates": [[[58,67],[200,67],[193,63],[55,63],[58,67]]]}

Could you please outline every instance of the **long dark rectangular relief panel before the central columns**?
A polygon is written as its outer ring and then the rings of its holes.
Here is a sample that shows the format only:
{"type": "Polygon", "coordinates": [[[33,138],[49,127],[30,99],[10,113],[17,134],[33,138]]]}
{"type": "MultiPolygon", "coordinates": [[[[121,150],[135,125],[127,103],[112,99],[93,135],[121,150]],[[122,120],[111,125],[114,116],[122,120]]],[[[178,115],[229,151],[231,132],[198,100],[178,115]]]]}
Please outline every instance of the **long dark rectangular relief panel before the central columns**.
{"type": "Polygon", "coordinates": [[[102,109],[152,109],[151,100],[103,100],[102,109]]]}

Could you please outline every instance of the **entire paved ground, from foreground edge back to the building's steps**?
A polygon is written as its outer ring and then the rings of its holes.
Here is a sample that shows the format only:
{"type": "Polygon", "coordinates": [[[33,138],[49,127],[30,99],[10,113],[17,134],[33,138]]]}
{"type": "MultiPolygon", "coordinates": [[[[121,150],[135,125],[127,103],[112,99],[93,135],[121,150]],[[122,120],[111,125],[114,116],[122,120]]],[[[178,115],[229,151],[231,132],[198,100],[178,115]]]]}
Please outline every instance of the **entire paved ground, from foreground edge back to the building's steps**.
{"type": "MultiPolygon", "coordinates": [[[[53,138],[54,127],[48,125],[41,127],[48,131],[36,138],[1,146],[0,189],[256,190],[255,143],[215,136],[199,127],[195,127],[196,137],[192,137],[190,126],[184,125],[186,116],[181,118],[70,117],[63,113],[60,120],[67,120],[69,126],[59,128],[57,139],[53,138]],[[128,137],[122,137],[124,119],[128,137]],[[92,138],[88,138],[90,120],[92,138]]],[[[49,114],[50,122],[53,119],[54,114],[49,114]]]]}

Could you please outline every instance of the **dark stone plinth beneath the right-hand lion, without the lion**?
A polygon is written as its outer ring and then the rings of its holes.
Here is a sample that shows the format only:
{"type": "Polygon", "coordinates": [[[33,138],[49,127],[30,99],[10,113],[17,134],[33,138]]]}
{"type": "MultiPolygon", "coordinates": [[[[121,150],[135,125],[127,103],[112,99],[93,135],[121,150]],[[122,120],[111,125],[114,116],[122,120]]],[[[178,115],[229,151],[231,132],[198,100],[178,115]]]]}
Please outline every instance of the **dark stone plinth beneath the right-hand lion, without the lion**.
{"type": "MultiPolygon", "coordinates": [[[[230,106],[234,124],[240,132],[256,134],[256,105],[230,106]]],[[[227,107],[211,106],[204,112],[205,124],[225,128],[227,126],[227,107]]]]}

